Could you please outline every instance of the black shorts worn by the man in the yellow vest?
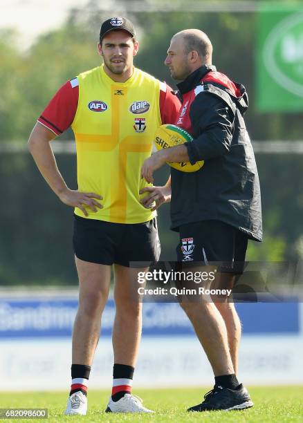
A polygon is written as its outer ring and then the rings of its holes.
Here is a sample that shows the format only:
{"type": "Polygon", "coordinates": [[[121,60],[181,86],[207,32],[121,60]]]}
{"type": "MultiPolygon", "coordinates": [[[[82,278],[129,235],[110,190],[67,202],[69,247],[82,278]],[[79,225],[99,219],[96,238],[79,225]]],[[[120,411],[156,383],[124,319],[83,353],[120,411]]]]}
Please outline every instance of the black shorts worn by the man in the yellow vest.
{"type": "MultiPolygon", "coordinates": [[[[78,259],[91,263],[129,267],[129,262],[158,261],[157,221],[111,223],[75,215],[73,247],[78,259]]],[[[141,267],[140,263],[134,267],[141,267]]]]}

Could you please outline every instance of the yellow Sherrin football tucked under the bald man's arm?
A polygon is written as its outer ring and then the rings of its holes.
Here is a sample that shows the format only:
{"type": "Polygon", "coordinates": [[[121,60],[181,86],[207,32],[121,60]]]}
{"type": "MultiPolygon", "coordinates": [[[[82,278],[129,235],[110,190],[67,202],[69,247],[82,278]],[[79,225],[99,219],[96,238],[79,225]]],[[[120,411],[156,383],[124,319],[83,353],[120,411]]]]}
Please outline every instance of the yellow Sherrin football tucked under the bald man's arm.
{"type": "MultiPolygon", "coordinates": [[[[176,125],[165,124],[158,127],[154,136],[154,144],[157,150],[162,150],[167,149],[168,147],[175,147],[176,145],[184,144],[184,142],[191,142],[193,139],[192,135],[184,129],[179,128],[176,125]]],[[[202,160],[201,162],[196,162],[195,164],[190,164],[190,162],[167,162],[167,164],[182,172],[196,172],[201,169],[204,161],[202,160]]]]}

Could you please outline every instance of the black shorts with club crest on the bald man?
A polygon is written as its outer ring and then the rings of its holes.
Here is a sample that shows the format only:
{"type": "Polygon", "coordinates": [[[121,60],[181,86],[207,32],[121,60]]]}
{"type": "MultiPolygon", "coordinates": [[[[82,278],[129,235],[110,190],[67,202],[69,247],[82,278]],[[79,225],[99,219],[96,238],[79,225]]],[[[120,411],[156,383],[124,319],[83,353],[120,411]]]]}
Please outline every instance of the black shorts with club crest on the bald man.
{"type": "Polygon", "coordinates": [[[248,238],[236,227],[221,220],[202,220],[180,226],[180,243],[177,260],[190,264],[191,261],[206,265],[219,265],[220,272],[241,274],[248,238]]]}

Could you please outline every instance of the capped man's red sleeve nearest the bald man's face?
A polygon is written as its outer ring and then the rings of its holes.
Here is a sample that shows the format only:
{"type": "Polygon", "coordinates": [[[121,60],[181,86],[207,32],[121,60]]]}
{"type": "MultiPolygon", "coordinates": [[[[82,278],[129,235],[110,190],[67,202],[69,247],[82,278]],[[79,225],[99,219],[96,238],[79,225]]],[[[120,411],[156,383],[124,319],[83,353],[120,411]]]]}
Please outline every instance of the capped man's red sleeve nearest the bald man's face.
{"type": "Polygon", "coordinates": [[[165,82],[160,83],[160,115],[162,124],[175,124],[181,102],[172,88],[165,82]]]}

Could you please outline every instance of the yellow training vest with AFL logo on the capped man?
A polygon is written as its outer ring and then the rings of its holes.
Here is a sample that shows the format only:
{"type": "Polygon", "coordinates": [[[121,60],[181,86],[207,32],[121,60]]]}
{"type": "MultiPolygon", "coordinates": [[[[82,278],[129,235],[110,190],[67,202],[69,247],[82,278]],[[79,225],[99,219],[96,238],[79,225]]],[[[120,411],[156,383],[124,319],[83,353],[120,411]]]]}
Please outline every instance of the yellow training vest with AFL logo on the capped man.
{"type": "MultiPolygon", "coordinates": [[[[127,82],[114,82],[103,66],[78,77],[79,100],[71,125],[77,147],[77,181],[82,192],[103,197],[103,209],[88,218],[113,223],[143,223],[156,212],[140,204],[147,182],[140,169],[152,153],[161,124],[160,82],[134,68],[127,82]]],[[[75,208],[77,216],[85,217],[75,208]]]]}

